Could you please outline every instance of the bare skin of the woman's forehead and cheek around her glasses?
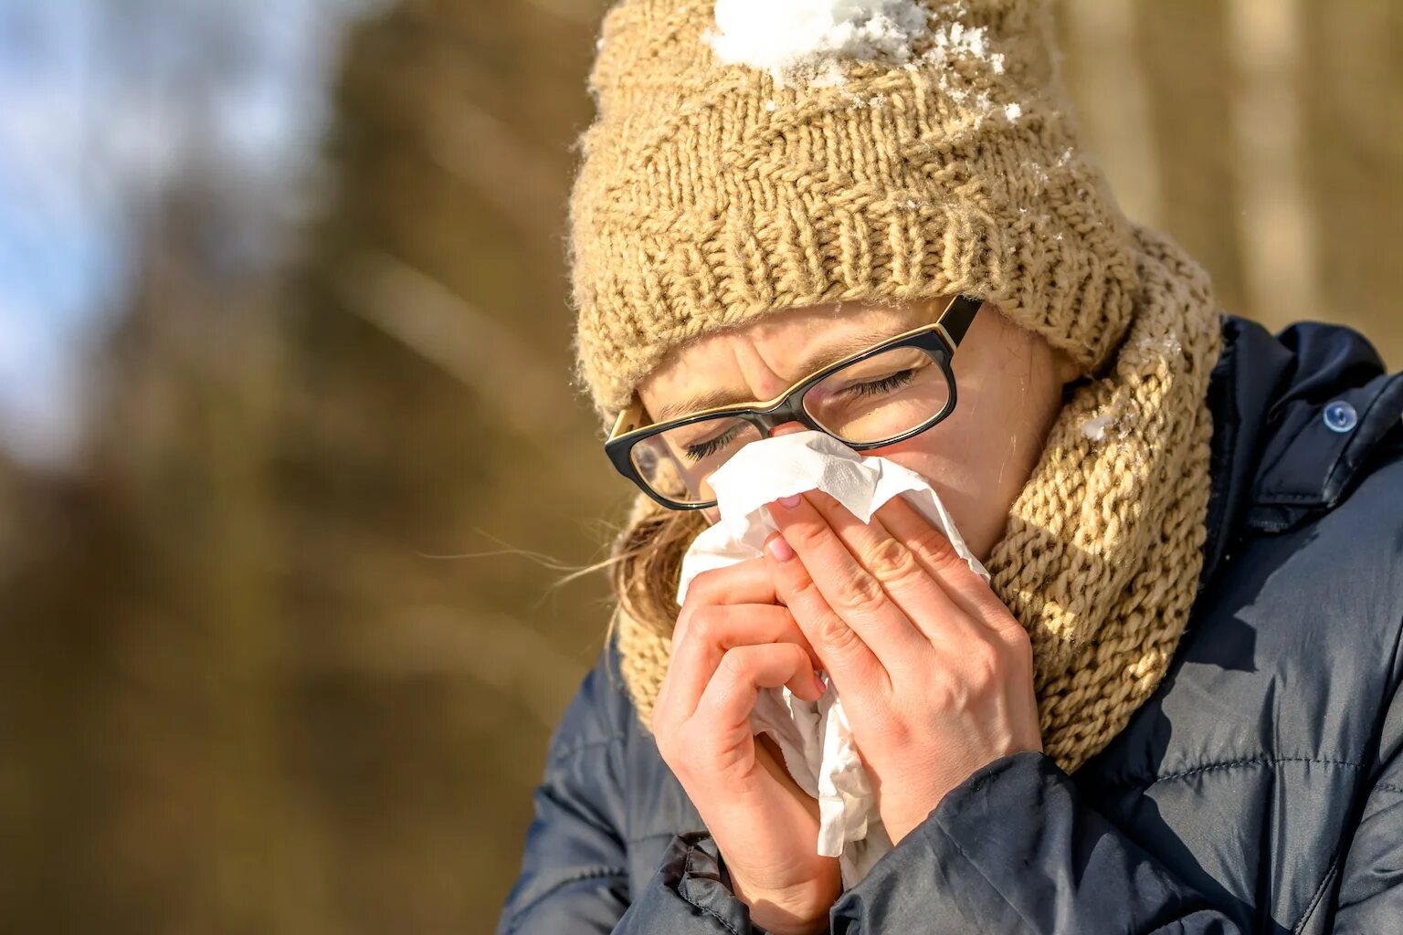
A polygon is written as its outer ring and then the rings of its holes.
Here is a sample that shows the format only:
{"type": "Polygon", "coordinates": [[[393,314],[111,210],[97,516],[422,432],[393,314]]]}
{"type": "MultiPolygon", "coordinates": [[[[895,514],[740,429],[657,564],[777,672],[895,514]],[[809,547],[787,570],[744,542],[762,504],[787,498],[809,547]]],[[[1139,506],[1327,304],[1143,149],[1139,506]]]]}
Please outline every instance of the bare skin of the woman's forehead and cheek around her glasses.
{"type": "MultiPolygon", "coordinates": [[[[918,328],[933,321],[946,303],[939,299],[898,307],[845,301],[772,313],[676,348],[638,384],[638,395],[650,416],[716,391],[732,402],[769,400],[853,353],[852,348],[840,349],[845,339],[918,328]]],[[[965,542],[979,561],[988,561],[1062,407],[1062,385],[1076,378],[1078,370],[1041,335],[1013,324],[989,303],[975,315],[951,369],[958,390],[954,412],[915,437],[863,454],[880,454],[925,477],[965,542]]],[[[774,435],[804,430],[803,423],[788,422],[774,435]]],[[[714,509],[706,514],[717,520],[714,509]]]]}

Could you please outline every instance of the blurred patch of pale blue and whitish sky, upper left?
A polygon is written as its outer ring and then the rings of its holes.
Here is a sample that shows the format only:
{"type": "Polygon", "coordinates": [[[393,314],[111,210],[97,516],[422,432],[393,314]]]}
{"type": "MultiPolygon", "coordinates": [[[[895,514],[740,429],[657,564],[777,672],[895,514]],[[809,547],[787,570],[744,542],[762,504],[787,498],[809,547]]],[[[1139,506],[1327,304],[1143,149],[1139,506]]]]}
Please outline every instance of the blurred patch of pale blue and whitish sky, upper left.
{"type": "Polygon", "coordinates": [[[257,191],[296,186],[338,28],[368,7],[0,0],[0,446],[67,457],[130,220],[194,146],[217,147],[257,191]]]}

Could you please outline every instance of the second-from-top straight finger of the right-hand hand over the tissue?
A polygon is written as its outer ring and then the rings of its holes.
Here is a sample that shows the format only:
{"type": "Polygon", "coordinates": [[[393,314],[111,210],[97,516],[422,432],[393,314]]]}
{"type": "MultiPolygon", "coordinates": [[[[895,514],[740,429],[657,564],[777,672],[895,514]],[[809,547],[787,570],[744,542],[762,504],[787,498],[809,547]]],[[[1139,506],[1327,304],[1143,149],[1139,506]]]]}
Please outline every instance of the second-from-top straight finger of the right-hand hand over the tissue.
{"type": "MultiPolygon", "coordinates": [[[[881,519],[881,509],[873,514],[871,520],[863,523],[836,498],[822,491],[811,491],[810,502],[847,547],[847,551],[857,558],[863,568],[871,572],[873,578],[881,582],[882,590],[927,639],[957,646],[962,641],[982,639],[988,635],[979,621],[971,620],[968,611],[953,600],[953,596],[932,576],[915,550],[908,548],[901,537],[888,531],[881,519]]],[[[926,523],[926,531],[933,533],[948,545],[948,540],[944,540],[940,531],[929,523],[926,523]]],[[[953,548],[951,552],[954,552],[953,548]]]]}

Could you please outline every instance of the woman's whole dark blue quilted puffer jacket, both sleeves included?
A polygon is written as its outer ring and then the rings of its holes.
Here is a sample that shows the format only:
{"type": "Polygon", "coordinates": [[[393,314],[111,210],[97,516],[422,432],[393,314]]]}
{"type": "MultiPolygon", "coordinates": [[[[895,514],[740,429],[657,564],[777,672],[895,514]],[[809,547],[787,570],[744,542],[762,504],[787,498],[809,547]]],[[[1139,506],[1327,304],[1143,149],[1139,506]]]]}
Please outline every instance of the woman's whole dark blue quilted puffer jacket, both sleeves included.
{"type": "MultiPolygon", "coordinates": [[[[835,935],[1403,934],[1403,374],[1357,332],[1225,315],[1201,589],[1075,774],[1002,757],[829,913],[835,935]]],[[[746,935],[606,645],[556,729],[498,935],[746,935]]]]}

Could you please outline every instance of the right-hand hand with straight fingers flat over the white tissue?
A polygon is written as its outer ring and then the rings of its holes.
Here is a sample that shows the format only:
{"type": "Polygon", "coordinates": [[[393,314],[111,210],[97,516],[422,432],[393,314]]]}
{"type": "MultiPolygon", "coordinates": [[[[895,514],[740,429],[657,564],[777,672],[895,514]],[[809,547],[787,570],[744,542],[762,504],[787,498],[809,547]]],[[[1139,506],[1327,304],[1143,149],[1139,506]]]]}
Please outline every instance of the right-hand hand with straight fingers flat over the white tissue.
{"type": "Polygon", "coordinates": [[[911,503],[871,523],[821,491],[769,510],[776,593],[843,699],[892,842],[979,767],[1042,750],[1027,631],[911,503]]]}

